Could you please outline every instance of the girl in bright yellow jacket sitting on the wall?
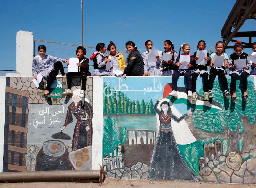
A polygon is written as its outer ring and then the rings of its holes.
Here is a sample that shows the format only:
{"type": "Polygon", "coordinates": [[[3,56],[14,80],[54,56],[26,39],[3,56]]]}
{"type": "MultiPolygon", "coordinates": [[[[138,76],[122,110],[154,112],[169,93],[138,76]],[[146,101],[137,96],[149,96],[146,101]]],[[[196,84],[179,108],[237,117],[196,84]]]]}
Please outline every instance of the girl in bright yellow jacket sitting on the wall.
{"type": "MultiPolygon", "coordinates": [[[[107,50],[110,52],[109,57],[113,59],[113,66],[124,71],[124,68],[126,67],[124,56],[116,51],[116,45],[112,41],[110,41],[107,50]]],[[[106,54],[106,57],[108,58],[108,54],[106,54]]]]}

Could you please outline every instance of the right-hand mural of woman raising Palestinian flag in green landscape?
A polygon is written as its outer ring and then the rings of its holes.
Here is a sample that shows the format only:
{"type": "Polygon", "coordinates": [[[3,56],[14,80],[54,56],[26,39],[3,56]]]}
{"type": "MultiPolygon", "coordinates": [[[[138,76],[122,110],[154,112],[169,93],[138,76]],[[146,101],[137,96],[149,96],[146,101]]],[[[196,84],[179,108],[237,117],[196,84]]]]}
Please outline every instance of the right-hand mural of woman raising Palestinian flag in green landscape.
{"type": "MultiPolygon", "coordinates": [[[[170,97],[168,77],[103,79],[103,168],[107,178],[256,183],[253,77],[247,101],[237,81],[237,101],[214,82],[214,97],[187,97],[183,77],[170,97]]],[[[230,78],[228,77],[230,84],[230,78]]],[[[241,82],[242,83],[242,82],[241,82]]]]}

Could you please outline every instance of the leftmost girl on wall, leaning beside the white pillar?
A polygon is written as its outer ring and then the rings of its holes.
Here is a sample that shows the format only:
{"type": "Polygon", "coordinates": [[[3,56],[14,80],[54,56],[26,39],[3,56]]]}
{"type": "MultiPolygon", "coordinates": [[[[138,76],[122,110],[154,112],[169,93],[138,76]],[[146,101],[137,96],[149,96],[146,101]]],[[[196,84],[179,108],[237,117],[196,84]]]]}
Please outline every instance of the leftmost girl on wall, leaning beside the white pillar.
{"type": "Polygon", "coordinates": [[[34,78],[37,80],[36,66],[39,68],[42,76],[47,80],[47,85],[44,90],[44,96],[50,99],[50,87],[53,81],[56,80],[56,75],[59,74],[59,71],[62,74],[62,76],[66,76],[62,63],[68,63],[68,60],[46,55],[46,46],[44,45],[38,46],[38,53],[39,55],[33,58],[32,72],[34,74],[34,78]],[[50,62],[53,62],[54,64],[51,65],[50,62]]]}

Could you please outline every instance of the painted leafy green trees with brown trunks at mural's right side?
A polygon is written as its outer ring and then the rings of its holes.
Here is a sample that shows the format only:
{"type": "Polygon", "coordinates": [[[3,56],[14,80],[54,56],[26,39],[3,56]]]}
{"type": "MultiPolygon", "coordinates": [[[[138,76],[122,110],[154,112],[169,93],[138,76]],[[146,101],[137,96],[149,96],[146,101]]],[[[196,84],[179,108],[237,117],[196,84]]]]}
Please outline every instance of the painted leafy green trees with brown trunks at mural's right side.
{"type": "MultiPolygon", "coordinates": [[[[228,80],[230,82],[230,80],[228,80]]],[[[221,84],[220,84],[221,86],[221,84]]],[[[218,101],[223,111],[209,111],[204,109],[196,109],[193,113],[193,126],[195,129],[203,130],[206,133],[225,134],[228,138],[228,152],[236,151],[248,152],[252,148],[256,148],[256,105],[254,105],[256,92],[254,84],[248,81],[247,101],[242,100],[242,86],[237,81],[237,100],[236,103],[231,102],[222,94],[218,82],[214,82],[215,88],[213,99],[218,101]],[[230,106],[229,106],[230,104],[230,106]],[[239,149],[239,140],[243,140],[243,146],[239,149]]],[[[200,90],[200,93],[203,91],[200,90]]]]}

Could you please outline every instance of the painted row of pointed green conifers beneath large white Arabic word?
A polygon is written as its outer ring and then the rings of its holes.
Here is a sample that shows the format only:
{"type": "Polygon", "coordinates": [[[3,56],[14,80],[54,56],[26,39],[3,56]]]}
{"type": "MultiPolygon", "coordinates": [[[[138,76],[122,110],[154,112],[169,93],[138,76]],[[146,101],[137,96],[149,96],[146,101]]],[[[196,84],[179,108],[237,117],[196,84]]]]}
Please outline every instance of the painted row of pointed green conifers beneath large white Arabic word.
{"type": "MultiPolygon", "coordinates": [[[[107,85],[104,83],[103,88],[107,85]]],[[[110,87],[107,87],[107,95],[110,95],[110,87]]],[[[136,102],[127,97],[121,91],[113,92],[113,99],[111,95],[109,97],[103,94],[103,114],[155,114],[153,110],[153,101],[145,101],[144,99],[139,101],[136,99],[136,102]]]]}

